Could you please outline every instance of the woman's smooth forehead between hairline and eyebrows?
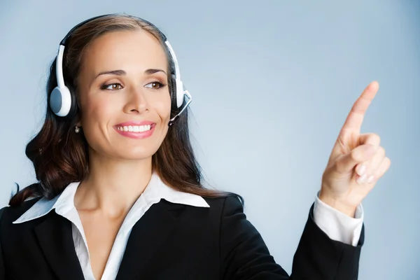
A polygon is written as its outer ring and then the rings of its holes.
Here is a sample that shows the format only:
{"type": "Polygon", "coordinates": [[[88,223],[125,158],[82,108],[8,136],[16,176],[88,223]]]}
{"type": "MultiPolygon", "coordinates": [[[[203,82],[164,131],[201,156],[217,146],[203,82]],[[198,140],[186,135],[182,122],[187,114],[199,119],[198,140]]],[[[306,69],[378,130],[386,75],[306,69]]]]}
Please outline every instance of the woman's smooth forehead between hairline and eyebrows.
{"type": "Polygon", "coordinates": [[[90,43],[83,54],[82,67],[93,72],[167,69],[167,57],[158,39],[148,31],[111,31],[90,43]]]}

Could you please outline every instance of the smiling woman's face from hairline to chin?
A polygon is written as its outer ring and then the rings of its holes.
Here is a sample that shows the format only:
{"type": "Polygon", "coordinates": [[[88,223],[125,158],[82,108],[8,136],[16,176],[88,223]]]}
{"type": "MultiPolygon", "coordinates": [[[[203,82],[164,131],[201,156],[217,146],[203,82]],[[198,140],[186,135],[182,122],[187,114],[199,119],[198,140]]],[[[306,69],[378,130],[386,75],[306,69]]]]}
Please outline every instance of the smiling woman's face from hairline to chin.
{"type": "Polygon", "coordinates": [[[147,31],[113,31],[85,50],[78,76],[80,125],[91,149],[111,158],[150,158],[167,134],[167,57],[147,31]]]}

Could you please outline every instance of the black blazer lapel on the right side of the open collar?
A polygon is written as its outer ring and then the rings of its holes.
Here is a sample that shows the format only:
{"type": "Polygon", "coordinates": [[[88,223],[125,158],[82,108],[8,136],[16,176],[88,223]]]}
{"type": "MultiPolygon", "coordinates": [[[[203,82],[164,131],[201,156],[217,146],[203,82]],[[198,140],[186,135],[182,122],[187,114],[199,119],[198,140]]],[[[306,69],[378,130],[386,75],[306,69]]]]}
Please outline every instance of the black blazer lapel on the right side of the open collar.
{"type": "Polygon", "coordinates": [[[153,204],[132,228],[116,280],[139,279],[162,253],[162,245],[175,230],[185,205],[161,200],[153,204]]]}

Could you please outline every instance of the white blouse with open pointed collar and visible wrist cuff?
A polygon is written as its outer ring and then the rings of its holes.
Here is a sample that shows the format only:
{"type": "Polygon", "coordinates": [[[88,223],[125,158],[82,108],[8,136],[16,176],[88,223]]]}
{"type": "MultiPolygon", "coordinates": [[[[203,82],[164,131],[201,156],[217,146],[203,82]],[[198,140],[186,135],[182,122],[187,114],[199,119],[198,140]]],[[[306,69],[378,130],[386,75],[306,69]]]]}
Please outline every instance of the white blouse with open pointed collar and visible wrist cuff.
{"type": "MultiPolygon", "coordinates": [[[[53,200],[45,200],[45,198],[38,200],[38,202],[13,223],[25,223],[26,221],[44,216],[52,211],[52,209],[55,209],[57,214],[67,218],[72,223],[74,248],[76,249],[76,255],[85,280],[96,280],[94,279],[92,267],[90,266],[90,256],[87,250],[83,225],[78,216],[78,211],[74,207],[74,195],[79,184],[80,182],[70,183],[61,195],[58,195],[53,200]]],[[[148,211],[151,205],[160,202],[162,198],[177,204],[186,204],[193,207],[210,207],[204,198],[199,195],[174,190],[165,185],[160,180],[160,177],[153,173],[148,186],[146,186],[146,189],[140,195],[137,202],[134,203],[118,231],[101,280],[116,279],[132,227],[148,211]]],[[[355,218],[351,218],[321,202],[316,196],[314,221],[330,239],[356,246],[363,226],[363,207],[359,205],[355,218]]]]}

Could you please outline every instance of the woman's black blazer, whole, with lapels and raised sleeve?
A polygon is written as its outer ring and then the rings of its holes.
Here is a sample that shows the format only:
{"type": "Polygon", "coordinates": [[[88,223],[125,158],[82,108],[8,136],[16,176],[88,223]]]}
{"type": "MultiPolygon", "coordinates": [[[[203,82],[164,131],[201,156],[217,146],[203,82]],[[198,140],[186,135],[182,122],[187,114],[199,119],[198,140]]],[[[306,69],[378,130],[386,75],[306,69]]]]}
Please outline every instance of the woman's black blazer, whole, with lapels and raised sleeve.
{"type": "MultiPolygon", "coordinates": [[[[116,279],[357,279],[364,227],[356,247],[332,241],[314,223],[312,205],[289,277],[236,197],[205,200],[210,208],[153,204],[132,229],[116,279]]],[[[0,279],[83,279],[66,218],[51,211],[12,224],[35,202],[3,211],[0,279]]]]}

